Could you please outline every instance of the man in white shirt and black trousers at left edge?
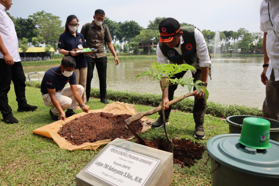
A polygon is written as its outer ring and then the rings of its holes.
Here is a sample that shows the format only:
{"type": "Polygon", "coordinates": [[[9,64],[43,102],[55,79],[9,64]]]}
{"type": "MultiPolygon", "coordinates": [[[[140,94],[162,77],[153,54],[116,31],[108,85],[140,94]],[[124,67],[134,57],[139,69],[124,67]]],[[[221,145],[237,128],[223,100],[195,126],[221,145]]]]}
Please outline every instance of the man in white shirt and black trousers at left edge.
{"type": "Polygon", "coordinates": [[[25,75],[20,55],[18,52],[18,40],[15,26],[6,11],[12,5],[11,0],[0,0],[0,111],[2,121],[8,124],[18,123],[13,116],[12,109],[8,104],[8,92],[10,91],[11,80],[14,83],[17,111],[33,111],[38,107],[27,104],[25,98],[25,75]]]}

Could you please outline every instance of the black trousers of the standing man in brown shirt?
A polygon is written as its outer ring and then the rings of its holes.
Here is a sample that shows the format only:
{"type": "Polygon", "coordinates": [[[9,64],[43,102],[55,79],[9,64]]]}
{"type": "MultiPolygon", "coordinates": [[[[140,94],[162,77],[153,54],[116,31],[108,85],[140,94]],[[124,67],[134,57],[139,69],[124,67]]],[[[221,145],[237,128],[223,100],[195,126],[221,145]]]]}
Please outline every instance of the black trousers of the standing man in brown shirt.
{"type": "Polygon", "coordinates": [[[107,98],[107,60],[106,57],[91,58],[86,57],[87,60],[87,80],[86,80],[86,98],[90,98],[91,80],[93,78],[93,70],[96,69],[100,84],[100,99],[107,98]]]}

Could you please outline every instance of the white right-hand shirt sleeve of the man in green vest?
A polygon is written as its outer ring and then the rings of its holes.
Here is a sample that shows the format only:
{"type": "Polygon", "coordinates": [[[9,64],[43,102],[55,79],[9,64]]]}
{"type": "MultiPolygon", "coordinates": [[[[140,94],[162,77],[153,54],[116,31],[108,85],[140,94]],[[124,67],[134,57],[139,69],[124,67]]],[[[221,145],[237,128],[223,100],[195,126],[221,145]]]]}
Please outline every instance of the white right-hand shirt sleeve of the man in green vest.
{"type": "Polygon", "coordinates": [[[211,64],[211,60],[208,54],[206,41],[202,33],[195,28],[194,36],[196,40],[197,56],[199,58],[200,67],[208,67],[211,64]]]}

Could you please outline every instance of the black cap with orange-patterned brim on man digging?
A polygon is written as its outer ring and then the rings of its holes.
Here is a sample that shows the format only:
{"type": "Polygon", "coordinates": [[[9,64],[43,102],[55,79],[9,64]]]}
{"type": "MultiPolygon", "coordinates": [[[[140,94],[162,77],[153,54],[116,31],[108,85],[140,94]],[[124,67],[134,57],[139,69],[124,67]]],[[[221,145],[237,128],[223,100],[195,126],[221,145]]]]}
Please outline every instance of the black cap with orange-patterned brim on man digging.
{"type": "Polygon", "coordinates": [[[180,24],[174,18],[166,18],[159,24],[160,40],[159,42],[173,42],[173,38],[180,31],[180,24]]]}

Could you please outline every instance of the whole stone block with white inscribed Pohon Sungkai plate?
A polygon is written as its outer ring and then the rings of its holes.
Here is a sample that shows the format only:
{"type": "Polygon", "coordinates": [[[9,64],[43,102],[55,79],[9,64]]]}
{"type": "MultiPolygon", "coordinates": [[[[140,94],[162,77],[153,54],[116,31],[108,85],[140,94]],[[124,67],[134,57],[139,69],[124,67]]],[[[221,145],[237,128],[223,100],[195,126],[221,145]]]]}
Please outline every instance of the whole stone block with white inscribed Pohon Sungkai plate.
{"type": "Polygon", "coordinates": [[[115,139],[78,173],[77,185],[169,185],[172,161],[172,153],[115,139]]]}

